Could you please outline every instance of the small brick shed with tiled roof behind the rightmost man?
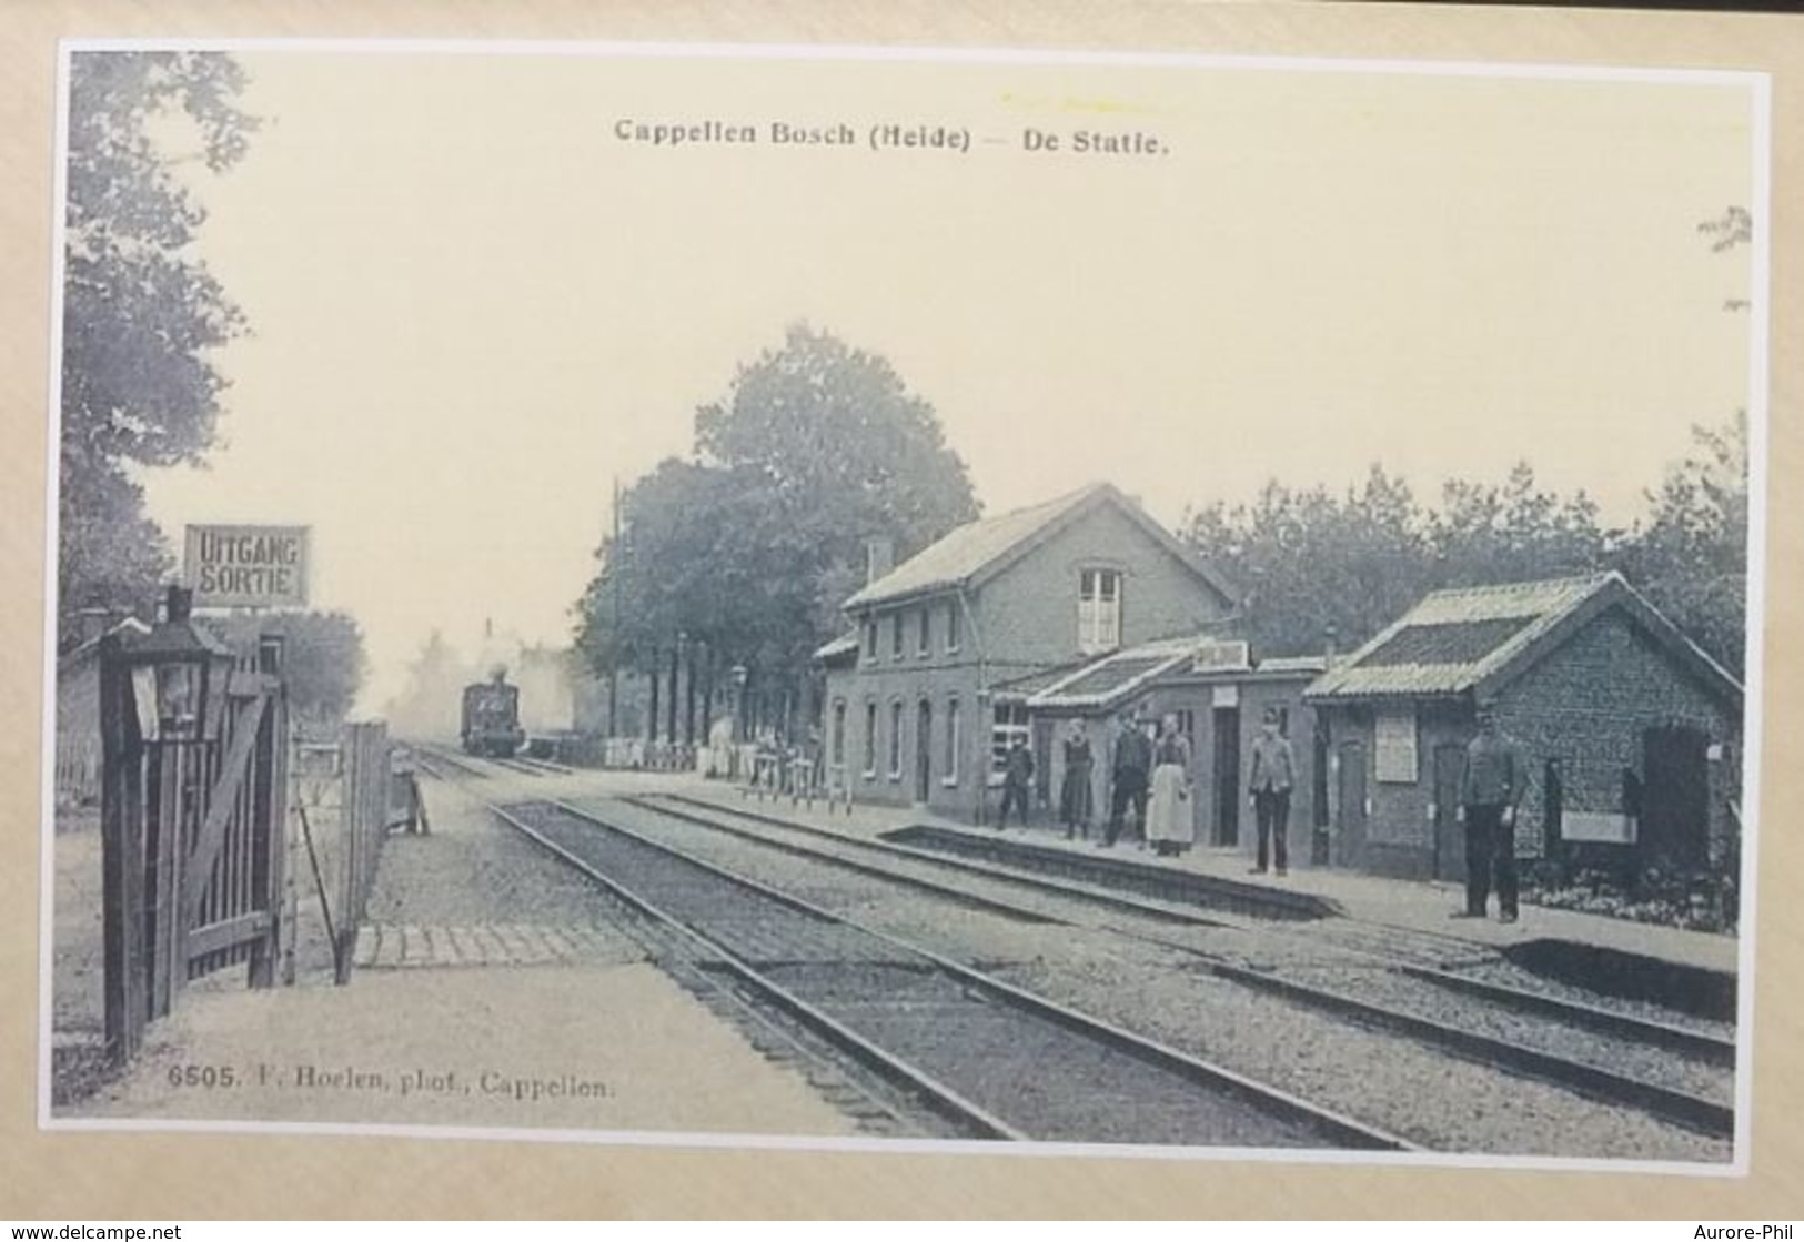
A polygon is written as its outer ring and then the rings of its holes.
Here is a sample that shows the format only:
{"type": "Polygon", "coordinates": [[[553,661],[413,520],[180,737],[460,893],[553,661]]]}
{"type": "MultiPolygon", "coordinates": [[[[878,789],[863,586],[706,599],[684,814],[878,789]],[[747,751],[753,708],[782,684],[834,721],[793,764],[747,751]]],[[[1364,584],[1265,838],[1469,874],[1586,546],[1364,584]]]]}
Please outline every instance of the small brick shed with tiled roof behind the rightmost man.
{"type": "Polygon", "coordinates": [[[1479,707],[1528,761],[1519,856],[1698,869],[1737,831],[1741,683],[1618,573],[1436,591],[1304,699],[1335,865],[1465,876],[1456,808],[1479,707]]]}

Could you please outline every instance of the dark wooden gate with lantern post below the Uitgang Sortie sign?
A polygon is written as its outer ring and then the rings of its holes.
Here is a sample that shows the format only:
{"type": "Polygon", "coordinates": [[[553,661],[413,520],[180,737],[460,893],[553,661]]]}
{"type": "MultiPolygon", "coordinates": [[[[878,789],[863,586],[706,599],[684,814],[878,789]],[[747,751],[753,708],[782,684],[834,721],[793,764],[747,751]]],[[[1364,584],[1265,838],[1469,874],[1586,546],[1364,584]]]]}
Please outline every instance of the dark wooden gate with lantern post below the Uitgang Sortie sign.
{"type": "Polygon", "coordinates": [[[101,647],[106,1044],[133,1056],[189,979],[276,981],[287,842],[281,640],[235,654],[188,620],[101,647]]]}

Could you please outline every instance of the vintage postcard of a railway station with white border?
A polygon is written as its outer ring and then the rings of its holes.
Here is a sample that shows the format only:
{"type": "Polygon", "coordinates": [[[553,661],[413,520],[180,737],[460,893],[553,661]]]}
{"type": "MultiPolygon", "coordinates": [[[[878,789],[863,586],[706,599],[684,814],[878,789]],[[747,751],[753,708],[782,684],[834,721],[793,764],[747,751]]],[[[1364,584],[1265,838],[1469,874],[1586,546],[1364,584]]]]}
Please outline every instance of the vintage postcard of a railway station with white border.
{"type": "Polygon", "coordinates": [[[41,1127],[1750,1168],[1764,74],[60,68],[41,1127]]]}

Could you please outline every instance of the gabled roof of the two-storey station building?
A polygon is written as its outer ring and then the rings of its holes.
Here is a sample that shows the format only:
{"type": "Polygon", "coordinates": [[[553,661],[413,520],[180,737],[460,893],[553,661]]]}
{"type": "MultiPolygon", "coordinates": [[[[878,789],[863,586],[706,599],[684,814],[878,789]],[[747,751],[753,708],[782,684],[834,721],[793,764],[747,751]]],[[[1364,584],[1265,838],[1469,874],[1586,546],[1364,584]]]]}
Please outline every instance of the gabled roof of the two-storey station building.
{"type": "Polygon", "coordinates": [[[1198,575],[1227,600],[1234,598],[1232,588],[1212,570],[1200,564],[1167,530],[1146,516],[1138,505],[1122,496],[1108,483],[1091,483],[1077,492],[1070,492],[1043,505],[1017,508],[996,517],[981,517],[953,530],[943,539],[929,544],[909,557],[895,570],[857,591],[842,607],[864,607],[889,600],[971,586],[987,571],[999,568],[1043,532],[1048,532],[1064,517],[1093,501],[1115,501],[1135,519],[1153,539],[1165,546],[1191,573],[1198,575]]]}

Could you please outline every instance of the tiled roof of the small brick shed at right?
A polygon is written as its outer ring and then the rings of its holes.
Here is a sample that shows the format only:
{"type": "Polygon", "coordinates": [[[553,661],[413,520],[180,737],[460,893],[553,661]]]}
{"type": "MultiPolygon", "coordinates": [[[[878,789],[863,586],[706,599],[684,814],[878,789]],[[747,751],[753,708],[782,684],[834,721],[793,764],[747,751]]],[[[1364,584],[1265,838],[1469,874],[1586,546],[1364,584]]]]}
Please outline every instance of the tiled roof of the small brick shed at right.
{"type": "Polygon", "coordinates": [[[1434,591],[1310,689],[1312,699],[1452,696],[1488,687],[1539,658],[1568,627],[1624,606],[1717,689],[1739,683],[1642,598],[1620,573],[1434,591]]]}

